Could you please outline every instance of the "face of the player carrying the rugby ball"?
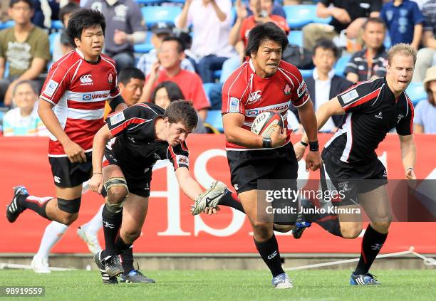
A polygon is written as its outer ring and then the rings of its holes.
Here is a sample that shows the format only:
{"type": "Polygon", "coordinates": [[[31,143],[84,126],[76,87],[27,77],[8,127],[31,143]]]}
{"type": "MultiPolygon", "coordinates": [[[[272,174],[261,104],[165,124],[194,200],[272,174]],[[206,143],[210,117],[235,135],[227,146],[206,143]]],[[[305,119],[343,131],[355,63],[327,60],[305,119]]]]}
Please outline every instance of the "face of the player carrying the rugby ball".
{"type": "Polygon", "coordinates": [[[261,43],[257,53],[251,53],[256,74],[261,78],[267,78],[276,73],[281,60],[281,44],[266,40],[261,43]]]}

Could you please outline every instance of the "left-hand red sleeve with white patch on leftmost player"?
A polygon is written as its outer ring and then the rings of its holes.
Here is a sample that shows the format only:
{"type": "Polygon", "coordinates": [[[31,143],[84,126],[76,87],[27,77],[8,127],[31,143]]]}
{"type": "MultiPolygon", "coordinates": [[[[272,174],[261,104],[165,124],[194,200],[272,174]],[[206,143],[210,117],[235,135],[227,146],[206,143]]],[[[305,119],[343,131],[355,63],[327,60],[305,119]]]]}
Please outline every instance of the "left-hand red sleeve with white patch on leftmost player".
{"type": "Polygon", "coordinates": [[[76,70],[78,63],[77,60],[73,65],[69,65],[68,59],[54,63],[48,71],[46,81],[41,89],[41,99],[50,102],[52,105],[57,105],[63,94],[68,90],[71,83],[71,74],[73,74],[71,70],[76,70]]]}

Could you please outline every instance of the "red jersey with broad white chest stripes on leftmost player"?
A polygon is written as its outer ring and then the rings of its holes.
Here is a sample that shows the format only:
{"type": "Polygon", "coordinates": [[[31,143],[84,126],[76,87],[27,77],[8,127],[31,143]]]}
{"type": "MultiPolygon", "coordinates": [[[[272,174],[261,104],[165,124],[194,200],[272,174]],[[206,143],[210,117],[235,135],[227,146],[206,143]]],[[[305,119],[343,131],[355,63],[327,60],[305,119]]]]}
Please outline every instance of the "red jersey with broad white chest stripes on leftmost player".
{"type": "MultiPolygon", "coordinates": [[[[91,152],[94,135],[104,125],[105,102],[119,94],[115,61],[102,54],[98,63],[89,63],[76,49],[51,66],[40,97],[54,105],[68,137],[91,152]]],[[[66,157],[56,137],[50,139],[48,156],[66,157]]]]}

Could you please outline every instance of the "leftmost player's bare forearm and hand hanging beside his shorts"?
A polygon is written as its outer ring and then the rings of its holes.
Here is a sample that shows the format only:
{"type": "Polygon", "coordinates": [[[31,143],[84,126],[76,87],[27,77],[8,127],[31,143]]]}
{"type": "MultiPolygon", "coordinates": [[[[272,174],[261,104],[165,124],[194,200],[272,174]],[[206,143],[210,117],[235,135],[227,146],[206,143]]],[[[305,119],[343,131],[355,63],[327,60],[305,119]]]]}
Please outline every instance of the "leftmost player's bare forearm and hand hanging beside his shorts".
{"type": "Polygon", "coordinates": [[[49,130],[51,134],[53,134],[53,136],[56,137],[59,142],[61,142],[63,150],[72,163],[86,162],[85,152],[78,144],[71,141],[71,139],[67,136],[66,132],[59,123],[58,117],[56,117],[52,109],[53,105],[50,102],[43,99],[39,101],[38,115],[46,126],[47,130],[49,130]]]}

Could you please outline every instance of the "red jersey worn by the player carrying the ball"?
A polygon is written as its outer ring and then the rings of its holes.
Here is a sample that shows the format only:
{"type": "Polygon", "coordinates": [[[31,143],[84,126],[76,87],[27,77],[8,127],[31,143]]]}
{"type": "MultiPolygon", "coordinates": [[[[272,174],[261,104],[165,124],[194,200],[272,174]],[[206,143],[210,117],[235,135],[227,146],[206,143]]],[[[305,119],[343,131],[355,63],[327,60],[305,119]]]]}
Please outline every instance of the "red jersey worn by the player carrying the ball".
{"type": "MultiPolygon", "coordinates": [[[[300,107],[308,99],[306,83],[296,66],[281,60],[274,75],[261,78],[256,75],[252,61],[246,60],[224,83],[222,114],[243,114],[245,116],[243,128],[250,130],[257,115],[266,110],[276,110],[283,117],[284,127],[287,128],[289,106],[292,104],[294,107],[300,107]]],[[[290,141],[290,135],[291,130],[288,131],[286,143],[290,141]]],[[[247,148],[226,142],[226,149],[247,148]]]]}

